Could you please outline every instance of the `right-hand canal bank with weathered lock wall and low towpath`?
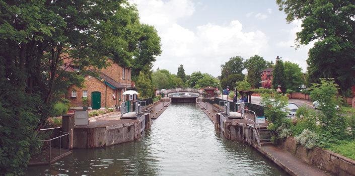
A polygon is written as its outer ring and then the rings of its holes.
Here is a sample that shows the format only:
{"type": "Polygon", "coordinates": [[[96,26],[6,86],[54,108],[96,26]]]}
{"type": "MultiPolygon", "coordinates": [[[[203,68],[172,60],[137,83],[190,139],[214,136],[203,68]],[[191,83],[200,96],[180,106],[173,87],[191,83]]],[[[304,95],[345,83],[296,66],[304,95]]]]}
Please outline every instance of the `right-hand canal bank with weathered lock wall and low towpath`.
{"type": "MultiPolygon", "coordinates": [[[[306,163],[290,152],[274,146],[271,142],[265,142],[259,145],[255,139],[256,135],[258,135],[255,133],[255,129],[260,129],[260,127],[248,127],[250,121],[246,119],[224,118],[224,113],[220,111],[221,107],[209,104],[202,99],[196,100],[196,104],[209,117],[212,123],[214,123],[216,131],[221,131],[224,138],[249,144],[290,175],[328,175],[325,171],[306,163]]],[[[249,114],[246,118],[250,118],[250,116],[252,115],[249,114]]],[[[261,124],[261,126],[265,125],[267,124],[261,124]]],[[[262,140],[262,138],[260,138],[260,140],[262,140]]]]}

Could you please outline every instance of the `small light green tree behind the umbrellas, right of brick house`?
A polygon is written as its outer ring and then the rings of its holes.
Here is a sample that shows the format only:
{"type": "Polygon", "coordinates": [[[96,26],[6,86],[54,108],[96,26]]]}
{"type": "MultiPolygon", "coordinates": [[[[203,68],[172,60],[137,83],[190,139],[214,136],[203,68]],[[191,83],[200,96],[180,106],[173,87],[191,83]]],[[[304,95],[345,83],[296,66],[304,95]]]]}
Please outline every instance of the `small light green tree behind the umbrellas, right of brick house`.
{"type": "Polygon", "coordinates": [[[154,96],[153,81],[150,74],[140,71],[136,86],[141,98],[146,99],[154,96]]]}

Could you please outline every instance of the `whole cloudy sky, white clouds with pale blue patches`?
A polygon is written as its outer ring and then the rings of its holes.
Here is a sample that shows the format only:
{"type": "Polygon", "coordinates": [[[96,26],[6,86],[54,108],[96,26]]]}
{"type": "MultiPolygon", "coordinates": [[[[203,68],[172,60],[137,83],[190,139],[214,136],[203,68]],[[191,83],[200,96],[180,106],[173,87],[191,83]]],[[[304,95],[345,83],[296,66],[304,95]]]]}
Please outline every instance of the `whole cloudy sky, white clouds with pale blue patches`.
{"type": "Polygon", "coordinates": [[[306,71],[311,46],[295,49],[300,22],[287,24],[285,13],[270,0],[132,0],[142,23],[154,25],[162,38],[162,54],[154,69],[177,73],[221,74],[221,64],[232,56],[258,54],[299,64],[306,71]]]}

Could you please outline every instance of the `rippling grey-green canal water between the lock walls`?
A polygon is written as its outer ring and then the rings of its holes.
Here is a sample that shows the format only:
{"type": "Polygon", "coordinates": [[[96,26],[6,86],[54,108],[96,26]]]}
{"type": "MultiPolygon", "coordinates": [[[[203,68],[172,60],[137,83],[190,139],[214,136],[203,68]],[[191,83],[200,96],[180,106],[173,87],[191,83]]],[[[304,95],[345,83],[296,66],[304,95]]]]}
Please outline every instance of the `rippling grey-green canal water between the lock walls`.
{"type": "Polygon", "coordinates": [[[27,175],[287,175],[248,145],[223,139],[195,104],[172,104],[139,140],[75,149],[27,175]]]}

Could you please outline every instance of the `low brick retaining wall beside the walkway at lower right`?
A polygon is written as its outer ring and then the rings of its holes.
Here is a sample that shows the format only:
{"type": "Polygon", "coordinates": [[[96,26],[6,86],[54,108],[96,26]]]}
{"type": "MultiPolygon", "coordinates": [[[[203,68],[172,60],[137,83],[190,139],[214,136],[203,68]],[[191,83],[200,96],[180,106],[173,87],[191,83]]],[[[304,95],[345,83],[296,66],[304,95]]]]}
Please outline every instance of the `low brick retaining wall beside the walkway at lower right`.
{"type": "Polygon", "coordinates": [[[308,150],[297,145],[293,137],[287,138],[280,146],[283,150],[294,153],[298,158],[308,164],[326,170],[335,175],[355,175],[355,161],[337,153],[316,147],[308,150]]]}

